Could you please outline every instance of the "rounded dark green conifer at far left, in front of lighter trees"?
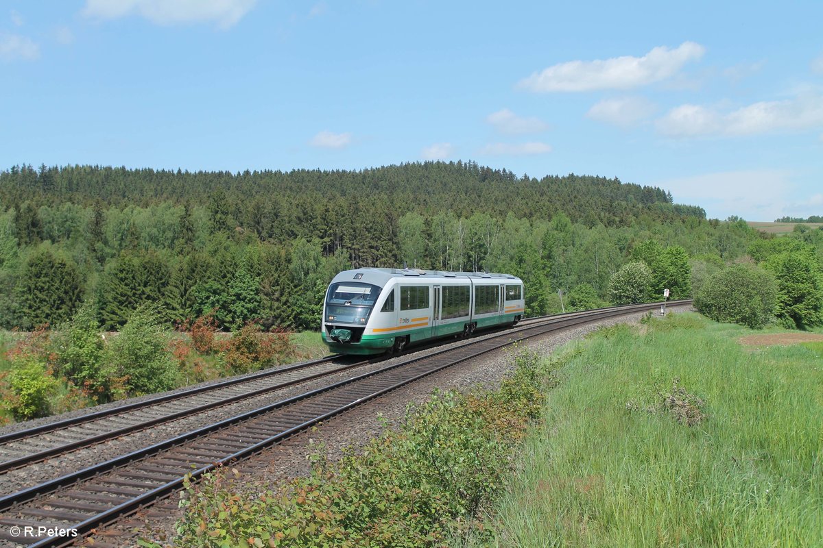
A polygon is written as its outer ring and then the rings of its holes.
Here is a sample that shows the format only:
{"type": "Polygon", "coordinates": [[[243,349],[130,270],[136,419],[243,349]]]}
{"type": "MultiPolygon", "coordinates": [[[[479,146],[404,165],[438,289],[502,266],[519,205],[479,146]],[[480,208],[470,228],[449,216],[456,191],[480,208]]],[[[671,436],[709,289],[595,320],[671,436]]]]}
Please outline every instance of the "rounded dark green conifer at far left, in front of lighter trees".
{"type": "Polygon", "coordinates": [[[23,265],[17,285],[21,327],[57,325],[80,306],[83,284],[77,266],[48,249],[35,251],[23,265]]]}

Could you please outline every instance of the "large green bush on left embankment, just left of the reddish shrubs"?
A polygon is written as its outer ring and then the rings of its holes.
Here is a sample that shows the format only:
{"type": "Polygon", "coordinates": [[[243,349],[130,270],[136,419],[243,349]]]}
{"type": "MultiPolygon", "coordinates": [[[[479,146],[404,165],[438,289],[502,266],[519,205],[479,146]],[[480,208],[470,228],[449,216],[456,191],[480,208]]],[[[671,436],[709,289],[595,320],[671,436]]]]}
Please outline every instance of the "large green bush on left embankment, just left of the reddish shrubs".
{"type": "Polygon", "coordinates": [[[174,388],[177,368],[166,351],[169,334],[161,321],[159,311],[141,306],[109,343],[108,366],[123,378],[128,394],[155,394],[174,388]]]}

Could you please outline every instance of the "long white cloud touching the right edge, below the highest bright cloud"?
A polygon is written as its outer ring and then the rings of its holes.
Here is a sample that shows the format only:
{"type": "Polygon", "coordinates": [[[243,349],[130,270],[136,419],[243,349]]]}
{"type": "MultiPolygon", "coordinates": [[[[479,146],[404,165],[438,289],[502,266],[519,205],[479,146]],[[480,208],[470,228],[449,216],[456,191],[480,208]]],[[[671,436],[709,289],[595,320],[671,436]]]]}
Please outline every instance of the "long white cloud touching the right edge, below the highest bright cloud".
{"type": "Polygon", "coordinates": [[[673,108],[657,122],[658,131],[672,137],[755,135],[821,126],[821,95],[783,101],[760,101],[730,113],[720,113],[695,104],[683,104],[673,108]]]}

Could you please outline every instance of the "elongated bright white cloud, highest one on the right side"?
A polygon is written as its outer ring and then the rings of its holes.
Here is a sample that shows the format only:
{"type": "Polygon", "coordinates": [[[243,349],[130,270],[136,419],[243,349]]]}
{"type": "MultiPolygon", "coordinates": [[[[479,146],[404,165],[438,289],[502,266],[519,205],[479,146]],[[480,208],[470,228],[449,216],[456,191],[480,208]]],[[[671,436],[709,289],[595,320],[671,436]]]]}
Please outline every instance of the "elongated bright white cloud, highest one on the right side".
{"type": "Polygon", "coordinates": [[[699,59],[705,48],[684,42],[676,49],[653,48],[643,57],[624,56],[597,61],[570,61],[553,65],[524,78],[518,87],[529,91],[628,90],[665,80],[686,62],[699,59]]]}

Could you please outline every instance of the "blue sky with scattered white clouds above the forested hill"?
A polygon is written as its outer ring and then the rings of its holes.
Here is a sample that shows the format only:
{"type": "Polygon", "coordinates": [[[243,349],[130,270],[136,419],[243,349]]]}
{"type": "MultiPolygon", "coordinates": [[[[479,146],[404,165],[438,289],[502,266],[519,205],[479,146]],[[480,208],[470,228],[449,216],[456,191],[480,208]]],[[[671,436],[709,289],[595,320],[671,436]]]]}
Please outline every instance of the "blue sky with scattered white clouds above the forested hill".
{"type": "Polygon", "coordinates": [[[0,169],[473,160],[823,214],[823,2],[0,0],[0,169]]]}

